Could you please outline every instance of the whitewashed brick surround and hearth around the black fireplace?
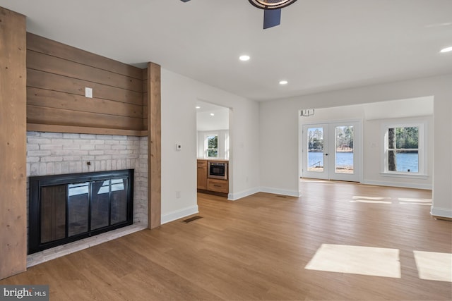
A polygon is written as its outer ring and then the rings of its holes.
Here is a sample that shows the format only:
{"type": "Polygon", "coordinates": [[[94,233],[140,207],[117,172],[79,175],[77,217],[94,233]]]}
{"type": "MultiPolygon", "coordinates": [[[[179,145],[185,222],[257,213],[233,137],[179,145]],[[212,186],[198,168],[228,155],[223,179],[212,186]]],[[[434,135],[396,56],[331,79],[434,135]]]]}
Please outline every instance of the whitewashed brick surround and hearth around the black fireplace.
{"type": "Polygon", "coordinates": [[[133,225],[30,254],[28,267],[147,228],[148,137],[27,132],[27,178],[119,169],[135,170],[133,225]]]}

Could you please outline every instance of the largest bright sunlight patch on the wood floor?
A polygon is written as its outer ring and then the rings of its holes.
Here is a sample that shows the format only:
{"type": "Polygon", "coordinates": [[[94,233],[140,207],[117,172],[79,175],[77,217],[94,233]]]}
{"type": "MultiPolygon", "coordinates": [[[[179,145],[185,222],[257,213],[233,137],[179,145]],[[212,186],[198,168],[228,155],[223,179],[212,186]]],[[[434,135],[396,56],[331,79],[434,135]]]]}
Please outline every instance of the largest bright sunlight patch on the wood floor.
{"type": "Polygon", "coordinates": [[[305,269],[400,278],[399,250],[323,244],[305,269]]]}

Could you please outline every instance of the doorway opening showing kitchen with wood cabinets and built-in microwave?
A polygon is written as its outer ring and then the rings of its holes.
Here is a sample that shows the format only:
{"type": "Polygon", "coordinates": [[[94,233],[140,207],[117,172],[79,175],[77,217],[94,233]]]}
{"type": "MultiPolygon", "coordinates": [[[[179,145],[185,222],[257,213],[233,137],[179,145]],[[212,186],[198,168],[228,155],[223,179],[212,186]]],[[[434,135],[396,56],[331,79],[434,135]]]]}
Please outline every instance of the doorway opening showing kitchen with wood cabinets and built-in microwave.
{"type": "Polygon", "coordinates": [[[197,190],[226,197],[230,191],[230,109],[196,102],[197,190]]]}

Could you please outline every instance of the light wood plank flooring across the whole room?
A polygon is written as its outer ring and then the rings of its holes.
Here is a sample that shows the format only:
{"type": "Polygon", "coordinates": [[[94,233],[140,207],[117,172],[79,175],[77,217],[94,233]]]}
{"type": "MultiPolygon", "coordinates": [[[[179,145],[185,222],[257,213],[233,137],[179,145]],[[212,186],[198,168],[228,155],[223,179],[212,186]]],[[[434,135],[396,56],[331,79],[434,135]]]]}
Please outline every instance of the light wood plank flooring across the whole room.
{"type": "MultiPolygon", "coordinates": [[[[431,197],[319,180],[304,180],[300,198],[198,194],[202,219],[133,233],[0,284],[49,284],[50,300],[452,300],[452,283],[421,279],[413,253],[451,253],[452,222],[430,216],[431,197]],[[306,269],[322,245],[392,250],[400,277],[306,269]]],[[[367,250],[364,269],[373,264],[367,250]]]]}

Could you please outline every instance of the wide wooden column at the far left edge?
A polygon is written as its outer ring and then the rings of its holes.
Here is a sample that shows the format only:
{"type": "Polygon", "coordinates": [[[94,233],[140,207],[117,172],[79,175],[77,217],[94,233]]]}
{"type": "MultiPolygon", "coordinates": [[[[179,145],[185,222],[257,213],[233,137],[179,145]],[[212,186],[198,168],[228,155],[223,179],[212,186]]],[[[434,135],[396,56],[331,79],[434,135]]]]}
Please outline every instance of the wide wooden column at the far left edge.
{"type": "Polygon", "coordinates": [[[0,7],[0,279],[26,270],[25,16],[0,7]]]}

